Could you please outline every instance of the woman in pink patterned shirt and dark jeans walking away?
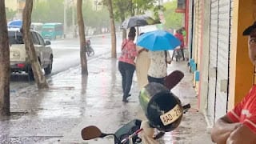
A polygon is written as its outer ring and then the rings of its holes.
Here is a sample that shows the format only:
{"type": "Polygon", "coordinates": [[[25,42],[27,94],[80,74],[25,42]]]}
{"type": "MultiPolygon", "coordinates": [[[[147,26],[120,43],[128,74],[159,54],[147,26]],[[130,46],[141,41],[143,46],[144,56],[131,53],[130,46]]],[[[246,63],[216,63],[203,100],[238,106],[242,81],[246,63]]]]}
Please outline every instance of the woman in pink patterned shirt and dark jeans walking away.
{"type": "Polygon", "coordinates": [[[130,31],[128,39],[122,42],[122,54],[118,59],[118,70],[122,75],[122,102],[128,102],[127,98],[130,96],[130,87],[134,77],[135,62],[134,59],[138,55],[136,46],[134,44],[135,32],[130,31]]]}

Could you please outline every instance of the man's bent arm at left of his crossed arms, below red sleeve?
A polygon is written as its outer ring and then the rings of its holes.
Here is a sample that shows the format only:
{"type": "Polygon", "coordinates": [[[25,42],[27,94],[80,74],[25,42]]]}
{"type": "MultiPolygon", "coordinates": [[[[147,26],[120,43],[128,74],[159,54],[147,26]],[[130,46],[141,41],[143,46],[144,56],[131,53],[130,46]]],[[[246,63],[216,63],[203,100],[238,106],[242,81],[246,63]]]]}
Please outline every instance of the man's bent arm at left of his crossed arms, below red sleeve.
{"type": "Polygon", "coordinates": [[[218,144],[225,144],[227,138],[230,137],[230,134],[233,130],[241,126],[242,124],[239,122],[232,123],[230,118],[227,115],[219,118],[215,123],[213,130],[211,131],[211,139],[213,142],[218,144]]]}

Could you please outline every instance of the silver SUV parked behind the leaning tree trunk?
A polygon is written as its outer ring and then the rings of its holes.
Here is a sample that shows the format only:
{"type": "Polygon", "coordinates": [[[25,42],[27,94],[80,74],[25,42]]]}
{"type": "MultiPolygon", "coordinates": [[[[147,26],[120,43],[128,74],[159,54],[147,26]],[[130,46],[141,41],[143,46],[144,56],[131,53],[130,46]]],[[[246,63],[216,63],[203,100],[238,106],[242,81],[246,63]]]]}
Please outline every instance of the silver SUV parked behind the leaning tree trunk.
{"type": "MultiPolygon", "coordinates": [[[[30,30],[34,49],[38,56],[38,61],[45,74],[50,74],[53,64],[53,50],[50,47],[50,41],[45,41],[41,34],[35,30],[30,30]]],[[[28,54],[26,54],[25,44],[22,39],[22,33],[19,29],[9,29],[8,37],[10,43],[10,70],[11,72],[23,72],[34,78],[28,54]]]]}

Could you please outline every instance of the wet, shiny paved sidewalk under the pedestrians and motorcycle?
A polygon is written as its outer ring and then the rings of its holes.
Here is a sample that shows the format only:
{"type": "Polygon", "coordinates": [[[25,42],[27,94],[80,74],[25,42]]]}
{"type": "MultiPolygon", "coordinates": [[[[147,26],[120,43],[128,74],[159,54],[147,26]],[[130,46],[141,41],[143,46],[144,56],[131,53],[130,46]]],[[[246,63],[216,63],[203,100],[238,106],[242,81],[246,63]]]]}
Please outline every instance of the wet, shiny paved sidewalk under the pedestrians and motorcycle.
{"type": "MultiPolygon", "coordinates": [[[[198,113],[192,74],[186,62],[173,62],[168,69],[182,70],[185,77],[172,90],[192,108],[178,128],[164,137],[166,143],[208,144],[210,132],[204,116],[198,113]]],[[[113,133],[134,118],[145,119],[138,102],[136,74],[128,103],[122,103],[121,75],[116,59],[110,54],[88,62],[89,76],[82,77],[80,66],[49,78],[49,90],[36,86],[10,93],[12,115],[0,118],[0,143],[113,143],[111,137],[83,141],[85,126],[98,126],[113,133]]]]}

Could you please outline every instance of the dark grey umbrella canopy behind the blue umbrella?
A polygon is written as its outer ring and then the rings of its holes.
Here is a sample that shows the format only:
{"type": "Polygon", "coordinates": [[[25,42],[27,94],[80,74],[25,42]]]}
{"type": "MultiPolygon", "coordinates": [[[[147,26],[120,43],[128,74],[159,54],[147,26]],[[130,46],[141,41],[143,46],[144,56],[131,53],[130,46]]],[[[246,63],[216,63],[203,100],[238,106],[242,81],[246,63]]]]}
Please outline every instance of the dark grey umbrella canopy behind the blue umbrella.
{"type": "Polygon", "coordinates": [[[122,29],[128,29],[134,26],[146,26],[146,25],[154,25],[157,23],[161,23],[158,20],[154,20],[150,16],[146,15],[137,15],[134,17],[127,18],[124,22],[122,22],[122,29]]]}

